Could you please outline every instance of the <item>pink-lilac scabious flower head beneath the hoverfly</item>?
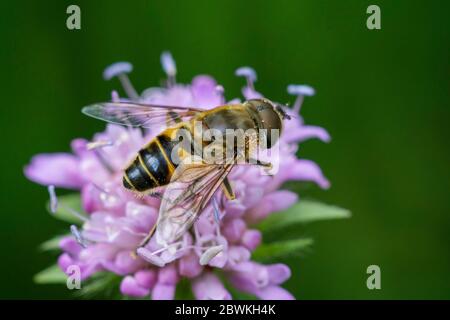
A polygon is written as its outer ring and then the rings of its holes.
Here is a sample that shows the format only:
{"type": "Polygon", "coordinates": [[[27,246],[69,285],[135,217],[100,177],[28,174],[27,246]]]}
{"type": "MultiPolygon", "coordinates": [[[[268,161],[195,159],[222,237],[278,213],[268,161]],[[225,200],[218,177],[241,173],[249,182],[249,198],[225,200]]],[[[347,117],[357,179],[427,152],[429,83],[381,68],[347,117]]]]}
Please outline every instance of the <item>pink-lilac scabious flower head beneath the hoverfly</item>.
{"type": "MultiPolygon", "coordinates": [[[[112,100],[137,99],[142,103],[205,109],[227,102],[223,87],[212,77],[200,75],[191,84],[178,84],[172,56],[164,53],[161,61],[168,75],[167,86],[147,89],[140,96],[126,76],[132,70],[131,64],[122,62],[107,68],[105,79],[118,77],[128,94],[128,98],[123,99],[113,91],[112,100]]],[[[263,96],[254,88],[256,73],[253,69],[240,68],[236,75],[246,78],[242,89],[245,99],[263,96]]],[[[291,85],[289,93],[297,96],[293,108],[287,110],[293,114],[300,111],[303,97],[313,94],[314,90],[291,85]]],[[[50,186],[52,211],[58,205],[52,187],[56,186],[79,190],[86,212],[86,215],[77,214],[82,220],[81,226],[72,226],[73,235],[59,243],[61,270],[65,272],[69,266],[77,265],[82,279],[100,271],[112,272],[122,277],[121,293],[131,297],[173,299],[180,279],[188,278],[197,299],[231,299],[222,279],[261,299],[293,299],[281,287],[291,275],[288,266],[252,261],[252,251],[262,241],[261,232],[253,226],[297,202],[297,194],[280,189],[284,182],[312,181],[321,188],[329,187],[314,162],[296,157],[298,143],[310,138],[327,142],[328,133],[320,127],[305,125],[299,115],[294,115],[286,121],[279,141],[282,161],[274,176],[261,175],[256,166],[236,166],[229,176],[236,199],[221,202],[219,222],[214,219],[217,209],[210,204],[192,230],[178,242],[161,248],[152,240],[135,255],[135,249],[156,223],[160,199],[137,198],[125,190],[122,170],[161,129],[144,132],[110,124],[91,141],[73,140],[72,153],[40,154],[32,158],[25,175],[50,186]],[[220,278],[216,272],[219,269],[223,275],[220,278]]]]}

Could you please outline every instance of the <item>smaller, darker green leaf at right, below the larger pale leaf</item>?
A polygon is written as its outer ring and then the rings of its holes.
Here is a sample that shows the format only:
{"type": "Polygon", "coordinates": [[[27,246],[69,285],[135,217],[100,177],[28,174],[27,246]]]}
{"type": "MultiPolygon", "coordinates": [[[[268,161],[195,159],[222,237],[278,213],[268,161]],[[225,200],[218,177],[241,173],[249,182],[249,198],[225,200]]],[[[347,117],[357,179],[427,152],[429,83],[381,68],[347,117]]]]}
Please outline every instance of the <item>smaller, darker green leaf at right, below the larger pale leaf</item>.
{"type": "Polygon", "coordinates": [[[261,244],[253,251],[252,259],[264,261],[298,254],[301,250],[312,245],[312,243],[313,240],[310,238],[300,238],[261,244]]]}

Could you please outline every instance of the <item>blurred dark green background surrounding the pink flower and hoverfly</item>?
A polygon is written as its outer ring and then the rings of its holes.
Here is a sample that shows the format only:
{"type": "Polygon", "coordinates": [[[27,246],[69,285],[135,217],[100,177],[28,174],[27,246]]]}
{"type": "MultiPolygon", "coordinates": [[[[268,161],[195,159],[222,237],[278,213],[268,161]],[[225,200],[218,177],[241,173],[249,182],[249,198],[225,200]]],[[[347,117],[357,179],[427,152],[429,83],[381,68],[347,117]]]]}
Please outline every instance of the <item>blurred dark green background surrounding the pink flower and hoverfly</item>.
{"type": "Polygon", "coordinates": [[[293,101],[289,83],[316,88],[302,114],[333,140],[308,141],[300,155],[332,187],[300,194],[353,217],[304,229],[313,248],[286,260],[298,299],[450,298],[449,10],[406,0],[2,1],[0,297],[70,296],[32,282],[56,258],[38,244],[67,226],[46,213],[47,191],[23,166],[102,129],[80,108],[119,88],[102,80],[105,66],[132,62],[143,90],[159,84],[159,55],[170,50],[180,82],[211,74],[227,98],[240,95],[242,65],[274,100],[293,101]],[[66,28],[69,4],[81,7],[79,31],[66,28]],[[381,7],[381,30],[366,28],[370,4],[381,7]],[[366,287],[371,264],[381,290],[366,287]]]}

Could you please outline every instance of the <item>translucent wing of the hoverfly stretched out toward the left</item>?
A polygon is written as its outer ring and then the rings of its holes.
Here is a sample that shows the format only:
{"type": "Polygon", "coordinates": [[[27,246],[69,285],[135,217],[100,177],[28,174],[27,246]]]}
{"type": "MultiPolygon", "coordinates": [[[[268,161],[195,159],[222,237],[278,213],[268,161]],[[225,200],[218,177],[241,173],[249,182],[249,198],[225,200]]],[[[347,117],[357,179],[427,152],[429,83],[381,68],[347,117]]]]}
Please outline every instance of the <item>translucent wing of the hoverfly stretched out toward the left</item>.
{"type": "Polygon", "coordinates": [[[82,109],[90,117],[131,127],[150,128],[171,121],[186,121],[204,110],[198,108],[161,106],[135,102],[104,102],[82,109]]]}

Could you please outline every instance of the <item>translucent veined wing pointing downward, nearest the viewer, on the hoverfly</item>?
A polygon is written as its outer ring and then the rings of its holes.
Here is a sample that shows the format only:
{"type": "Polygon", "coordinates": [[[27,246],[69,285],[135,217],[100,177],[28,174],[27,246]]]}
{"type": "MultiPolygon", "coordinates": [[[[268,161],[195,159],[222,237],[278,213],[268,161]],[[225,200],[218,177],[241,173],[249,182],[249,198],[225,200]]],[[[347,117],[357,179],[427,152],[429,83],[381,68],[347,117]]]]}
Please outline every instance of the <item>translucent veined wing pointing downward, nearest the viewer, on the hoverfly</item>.
{"type": "Polygon", "coordinates": [[[167,246],[180,238],[230,173],[232,162],[217,165],[181,163],[167,186],[156,227],[156,242],[167,246]]]}

